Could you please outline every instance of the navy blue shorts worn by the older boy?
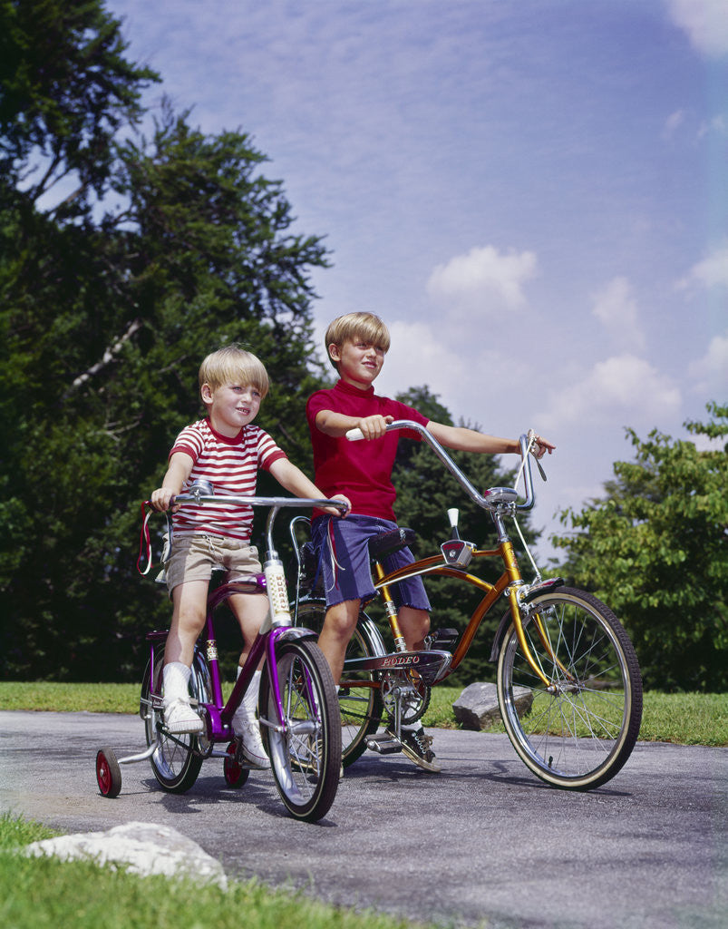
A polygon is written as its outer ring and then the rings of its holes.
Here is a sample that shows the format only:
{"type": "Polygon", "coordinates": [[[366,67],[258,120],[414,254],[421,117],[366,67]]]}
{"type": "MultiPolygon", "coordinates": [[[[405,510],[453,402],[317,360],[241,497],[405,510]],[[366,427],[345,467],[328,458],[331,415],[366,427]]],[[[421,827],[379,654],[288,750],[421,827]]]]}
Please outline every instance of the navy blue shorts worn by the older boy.
{"type": "MultiPolygon", "coordinates": [[[[396,530],[389,519],[350,514],[345,519],[318,517],[311,525],[311,539],[316,545],[318,564],[326,591],[326,606],[344,600],[361,600],[366,603],[376,591],[371,581],[369,540],[372,536],[396,530]]],[[[402,548],[383,558],[383,568],[389,573],[414,561],[409,548],[402,548]]],[[[422,579],[409,578],[392,588],[397,607],[425,609],[430,601],[424,592],[422,579]]]]}

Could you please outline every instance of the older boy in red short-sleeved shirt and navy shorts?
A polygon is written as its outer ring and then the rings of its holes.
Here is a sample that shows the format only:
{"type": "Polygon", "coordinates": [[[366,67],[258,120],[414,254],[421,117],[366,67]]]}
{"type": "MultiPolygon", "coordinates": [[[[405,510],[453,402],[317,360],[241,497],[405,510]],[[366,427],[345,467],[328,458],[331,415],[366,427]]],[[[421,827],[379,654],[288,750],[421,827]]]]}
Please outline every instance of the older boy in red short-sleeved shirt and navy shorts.
{"type": "MultiPolygon", "coordinates": [[[[374,393],[373,382],[382,371],[389,349],[389,333],[372,313],[348,313],[331,322],[326,349],[340,380],[331,389],[318,390],[306,405],[306,417],[314,451],[314,480],[328,497],[345,493],[351,500],[345,520],[314,514],[312,538],[323,551],[321,568],[327,611],[318,645],[331,665],[333,679],[341,678],[344,652],[357,625],[362,600],[375,591],[370,576],[368,543],[396,529],[392,468],[400,431],[386,432],[394,420],[408,419],[423,425],[450,449],[487,454],[520,453],[515,439],[483,435],[462,426],[428,420],[405,403],[374,393]],[[350,442],[349,429],[361,430],[366,441],[350,442]],[[331,557],[333,556],[333,557],[331,557]]],[[[404,433],[419,440],[416,433],[404,433]]],[[[534,453],[540,457],[554,446],[537,437],[534,453]]],[[[413,560],[409,549],[388,556],[384,567],[394,570],[413,560]]],[[[430,604],[420,578],[398,586],[398,620],[408,649],[423,647],[430,629],[430,604]]],[[[402,750],[424,770],[437,772],[432,739],[422,726],[402,728],[402,750]]]]}

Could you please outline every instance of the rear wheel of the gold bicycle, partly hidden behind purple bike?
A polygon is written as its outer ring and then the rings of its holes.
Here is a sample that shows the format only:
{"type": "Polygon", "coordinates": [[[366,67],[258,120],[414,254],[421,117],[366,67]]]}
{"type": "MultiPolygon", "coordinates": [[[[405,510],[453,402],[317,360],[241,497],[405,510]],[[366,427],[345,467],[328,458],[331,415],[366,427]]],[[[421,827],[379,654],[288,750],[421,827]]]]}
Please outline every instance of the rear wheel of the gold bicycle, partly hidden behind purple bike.
{"type": "MultiPolygon", "coordinates": [[[[296,625],[305,626],[317,635],[323,626],[326,615],[326,603],[323,600],[311,600],[298,608],[296,625]]],[[[367,616],[359,614],[357,627],[346,646],[344,661],[351,658],[370,658],[375,654],[370,637],[364,627],[367,616]]],[[[376,674],[371,671],[348,672],[344,674],[353,684],[361,682],[361,687],[339,687],[339,712],[342,720],[342,764],[353,765],[357,758],[367,749],[367,739],[373,735],[382,721],[383,706],[380,692],[374,687],[376,674]]]]}

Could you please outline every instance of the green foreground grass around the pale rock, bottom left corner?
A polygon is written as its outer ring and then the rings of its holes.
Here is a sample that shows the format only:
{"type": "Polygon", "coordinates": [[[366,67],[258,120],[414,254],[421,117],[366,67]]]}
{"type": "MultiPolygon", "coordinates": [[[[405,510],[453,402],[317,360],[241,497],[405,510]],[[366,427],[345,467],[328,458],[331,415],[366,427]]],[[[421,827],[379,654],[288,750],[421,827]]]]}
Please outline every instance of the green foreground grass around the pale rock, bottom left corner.
{"type": "Polygon", "coordinates": [[[411,929],[373,911],[337,909],[256,880],[228,890],[159,876],[139,877],[88,861],[28,858],[18,847],[53,833],[0,817],[0,925],[8,929],[411,929]]]}

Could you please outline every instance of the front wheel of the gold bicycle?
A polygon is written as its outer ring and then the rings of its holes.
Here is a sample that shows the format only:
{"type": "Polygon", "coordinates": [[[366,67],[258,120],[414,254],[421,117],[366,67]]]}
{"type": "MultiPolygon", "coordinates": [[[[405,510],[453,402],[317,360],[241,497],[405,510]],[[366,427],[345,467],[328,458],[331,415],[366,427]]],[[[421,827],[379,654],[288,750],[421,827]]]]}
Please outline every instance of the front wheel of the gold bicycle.
{"type": "Polygon", "coordinates": [[[515,751],[554,787],[586,791],[630,757],[642,721],[642,676],[627,633],[591,594],[568,587],[524,610],[526,661],[515,628],[498,661],[500,714],[515,751]]]}

